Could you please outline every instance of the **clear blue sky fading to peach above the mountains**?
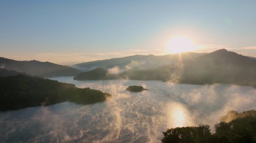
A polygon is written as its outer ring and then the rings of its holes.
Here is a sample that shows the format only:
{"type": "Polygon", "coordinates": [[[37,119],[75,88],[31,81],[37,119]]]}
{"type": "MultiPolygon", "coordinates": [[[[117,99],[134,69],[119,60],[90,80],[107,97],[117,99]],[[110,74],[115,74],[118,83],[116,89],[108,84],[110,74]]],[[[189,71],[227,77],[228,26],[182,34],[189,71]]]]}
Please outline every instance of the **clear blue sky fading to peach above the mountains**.
{"type": "Polygon", "coordinates": [[[74,64],[164,55],[177,51],[170,47],[177,36],[189,39],[189,51],[226,48],[256,57],[255,6],[256,0],[0,0],[0,57],[74,64]]]}

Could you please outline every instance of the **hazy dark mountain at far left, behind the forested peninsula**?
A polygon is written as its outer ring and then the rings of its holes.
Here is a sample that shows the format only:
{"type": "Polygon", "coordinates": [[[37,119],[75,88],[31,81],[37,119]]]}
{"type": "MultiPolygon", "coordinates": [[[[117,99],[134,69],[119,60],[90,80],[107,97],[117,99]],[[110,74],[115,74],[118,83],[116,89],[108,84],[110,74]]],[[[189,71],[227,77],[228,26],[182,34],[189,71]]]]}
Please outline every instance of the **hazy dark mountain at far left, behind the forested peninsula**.
{"type": "Polygon", "coordinates": [[[50,62],[41,61],[16,61],[0,57],[0,66],[8,70],[25,72],[31,75],[42,77],[74,76],[81,71],[68,66],[62,66],[50,62]]]}

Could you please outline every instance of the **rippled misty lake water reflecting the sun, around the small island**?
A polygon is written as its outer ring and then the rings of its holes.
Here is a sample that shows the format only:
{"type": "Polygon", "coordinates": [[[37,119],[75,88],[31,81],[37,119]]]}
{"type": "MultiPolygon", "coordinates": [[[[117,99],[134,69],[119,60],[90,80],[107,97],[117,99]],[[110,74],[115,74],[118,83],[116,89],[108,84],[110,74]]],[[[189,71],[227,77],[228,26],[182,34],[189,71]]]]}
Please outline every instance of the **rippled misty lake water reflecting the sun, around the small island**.
{"type": "Polygon", "coordinates": [[[226,111],[256,109],[256,89],[247,86],[52,79],[109,92],[112,99],[85,106],[64,102],[0,112],[0,143],[157,143],[167,128],[213,126],[226,111]],[[129,85],[142,85],[149,90],[128,92],[125,89],[129,85]]]}

